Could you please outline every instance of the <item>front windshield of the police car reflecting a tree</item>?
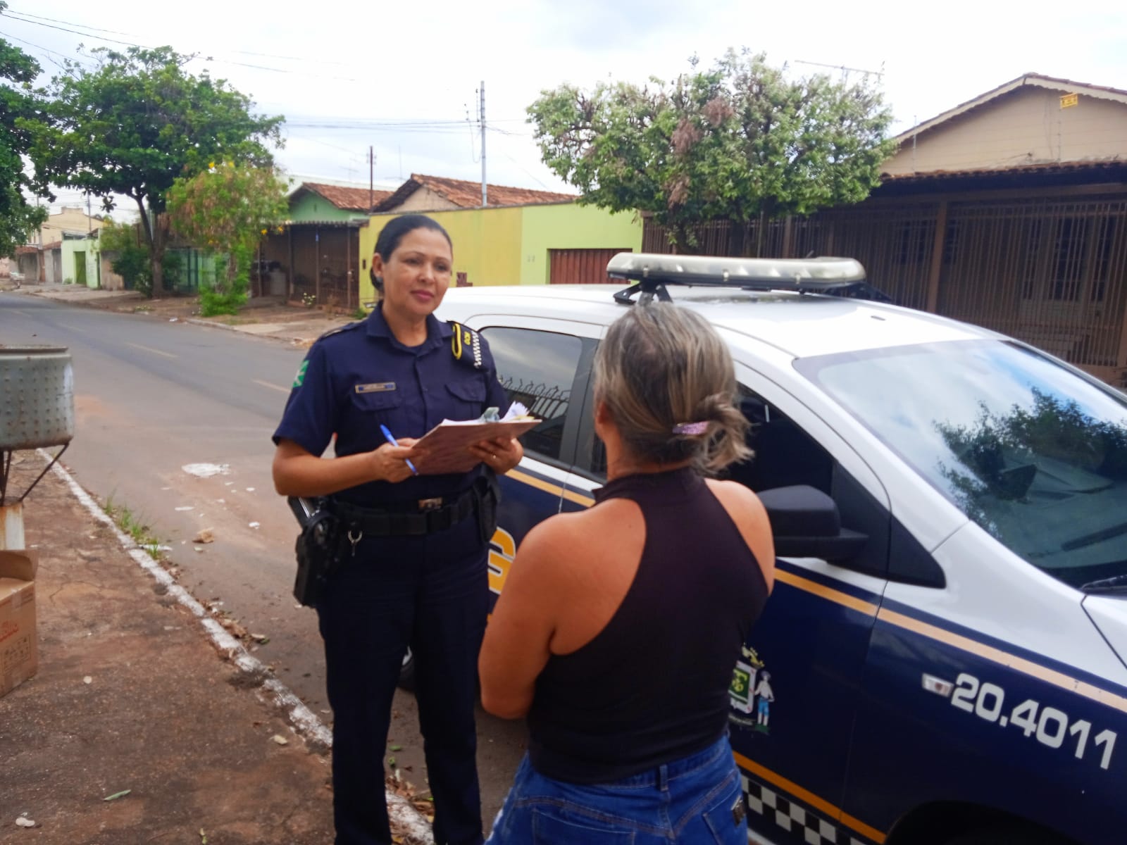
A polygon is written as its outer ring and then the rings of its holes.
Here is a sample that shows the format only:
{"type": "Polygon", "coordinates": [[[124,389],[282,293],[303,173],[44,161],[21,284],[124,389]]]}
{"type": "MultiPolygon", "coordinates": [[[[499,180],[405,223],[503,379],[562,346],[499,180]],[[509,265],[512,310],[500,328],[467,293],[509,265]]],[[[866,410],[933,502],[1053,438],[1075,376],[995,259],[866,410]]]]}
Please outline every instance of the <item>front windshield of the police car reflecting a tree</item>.
{"type": "Polygon", "coordinates": [[[796,366],[1015,554],[1081,586],[1127,572],[1127,401],[1001,340],[796,366]]]}

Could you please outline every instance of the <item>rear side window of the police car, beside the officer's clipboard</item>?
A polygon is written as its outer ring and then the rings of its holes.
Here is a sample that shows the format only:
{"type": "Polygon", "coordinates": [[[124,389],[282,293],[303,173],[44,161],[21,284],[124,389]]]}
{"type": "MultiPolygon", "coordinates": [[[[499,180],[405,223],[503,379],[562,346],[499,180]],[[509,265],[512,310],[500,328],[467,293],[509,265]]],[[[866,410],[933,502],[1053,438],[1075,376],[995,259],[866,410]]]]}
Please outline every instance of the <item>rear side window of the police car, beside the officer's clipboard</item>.
{"type": "Polygon", "coordinates": [[[559,460],[583,340],[574,335],[499,326],[481,333],[489,341],[497,377],[509,401],[521,402],[529,413],[543,420],[521,437],[525,452],[559,460]]]}

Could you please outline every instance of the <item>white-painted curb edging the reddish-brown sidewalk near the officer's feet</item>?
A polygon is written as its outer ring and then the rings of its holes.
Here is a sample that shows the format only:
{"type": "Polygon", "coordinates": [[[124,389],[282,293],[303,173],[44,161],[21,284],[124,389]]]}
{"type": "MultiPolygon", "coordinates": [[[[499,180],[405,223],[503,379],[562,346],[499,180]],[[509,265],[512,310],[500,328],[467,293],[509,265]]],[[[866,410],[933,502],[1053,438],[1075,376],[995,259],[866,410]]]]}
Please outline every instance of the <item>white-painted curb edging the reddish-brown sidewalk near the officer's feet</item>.
{"type": "MultiPolygon", "coordinates": [[[[52,456],[46,451],[41,448],[37,452],[44,461],[51,462],[52,456]]],[[[301,699],[294,695],[285,684],[272,677],[261,660],[248,652],[242,647],[242,643],[229,634],[190,593],[177,584],[176,579],[160,563],[153,560],[144,549],[134,542],[133,537],[118,528],[106,512],[101,509],[101,506],[82,489],[73,477],[63,469],[62,464],[56,463],[52,468],[52,472],[65,482],[74,498],[81,502],[82,507],[90,512],[90,515],[95,519],[107,525],[114,532],[122,548],[137,566],[151,575],[158,584],[167,587],[168,595],[172,596],[199,620],[199,624],[207,632],[212,644],[215,646],[221,655],[225,656],[239,669],[256,681],[265,678],[258,687],[261,691],[259,697],[265,696],[268,700],[267,703],[273,704],[284,712],[295,733],[304,737],[314,748],[319,746],[328,750],[332,747],[332,732],[325,727],[325,723],[317,718],[317,714],[307,708],[301,699]]],[[[391,818],[392,826],[403,831],[407,837],[405,840],[407,845],[434,845],[431,825],[415,809],[414,804],[406,798],[397,795],[393,792],[387,792],[387,798],[388,816],[391,818]]]]}

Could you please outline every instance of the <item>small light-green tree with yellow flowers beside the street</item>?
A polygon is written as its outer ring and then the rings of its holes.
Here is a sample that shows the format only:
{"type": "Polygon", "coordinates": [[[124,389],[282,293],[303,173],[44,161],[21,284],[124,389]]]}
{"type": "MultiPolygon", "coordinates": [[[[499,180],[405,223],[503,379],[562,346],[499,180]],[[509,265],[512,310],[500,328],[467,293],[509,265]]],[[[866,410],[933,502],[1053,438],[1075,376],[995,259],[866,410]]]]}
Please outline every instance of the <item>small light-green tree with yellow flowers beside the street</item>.
{"type": "Polygon", "coordinates": [[[204,315],[234,313],[247,300],[255,247],[286,217],[285,185],[269,168],[222,162],[174,181],[167,201],[169,221],[180,237],[225,254],[225,272],[216,273],[215,288],[201,291],[204,315]]]}

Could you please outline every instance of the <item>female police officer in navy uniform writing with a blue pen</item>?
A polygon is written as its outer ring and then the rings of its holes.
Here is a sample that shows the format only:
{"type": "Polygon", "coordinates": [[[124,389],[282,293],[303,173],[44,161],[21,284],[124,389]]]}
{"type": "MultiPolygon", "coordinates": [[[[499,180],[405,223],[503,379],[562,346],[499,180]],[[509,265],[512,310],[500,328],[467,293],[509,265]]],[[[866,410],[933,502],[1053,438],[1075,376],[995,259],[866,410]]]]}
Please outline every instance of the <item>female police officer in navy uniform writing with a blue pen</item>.
{"type": "Polygon", "coordinates": [[[471,472],[414,474],[416,438],[444,418],[508,403],[485,340],[480,355],[462,354],[452,327],[433,317],[452,261],[450,235],[429,217],[388,223],[372,259],[382,301],[366,320],[313,344],[274,433],[277,491],[330,497],[347,531],[343,562],[317,605],[334,713],[337,845],[391,842],[383,756],[408,647],[435,840],[482,838],[473,706],[492,532],[482,502],[491,475],[515,466],[522,450],[487,442],[473,447],[482,463],[471,472]],[[322,459],[334,434],[336,456],[322,459]]]}

